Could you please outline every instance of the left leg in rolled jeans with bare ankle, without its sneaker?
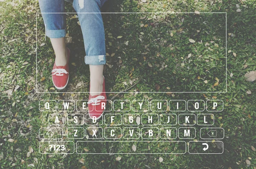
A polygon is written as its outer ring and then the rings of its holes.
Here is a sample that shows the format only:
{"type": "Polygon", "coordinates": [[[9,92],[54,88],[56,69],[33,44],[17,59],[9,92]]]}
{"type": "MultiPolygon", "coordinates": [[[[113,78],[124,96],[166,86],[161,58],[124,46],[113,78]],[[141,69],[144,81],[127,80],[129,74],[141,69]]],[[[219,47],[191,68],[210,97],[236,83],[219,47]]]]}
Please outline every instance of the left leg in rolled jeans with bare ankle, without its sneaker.
{"type": "Polygon", "coordinates": [[[65,14],[59,14],[64,13],[64,0],[39,0],[39,6],[46,27],[46,36],[50,38],[55,52],[55,64],[64,66],[67,63],[66,20],[65,14]]]}

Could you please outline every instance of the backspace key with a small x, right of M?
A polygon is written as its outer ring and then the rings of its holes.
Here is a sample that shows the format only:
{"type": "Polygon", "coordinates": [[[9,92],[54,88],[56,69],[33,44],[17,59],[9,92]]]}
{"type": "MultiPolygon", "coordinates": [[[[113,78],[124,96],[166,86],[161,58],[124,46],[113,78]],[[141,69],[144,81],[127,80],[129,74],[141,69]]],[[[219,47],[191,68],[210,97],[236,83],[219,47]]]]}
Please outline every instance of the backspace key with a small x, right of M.
{"type": "Polygon", "coordinates": [[[200,129],[200,138],[202,139],[223,139],[224,138],[224,129],[223,128],[201,128],[200,129]]]}

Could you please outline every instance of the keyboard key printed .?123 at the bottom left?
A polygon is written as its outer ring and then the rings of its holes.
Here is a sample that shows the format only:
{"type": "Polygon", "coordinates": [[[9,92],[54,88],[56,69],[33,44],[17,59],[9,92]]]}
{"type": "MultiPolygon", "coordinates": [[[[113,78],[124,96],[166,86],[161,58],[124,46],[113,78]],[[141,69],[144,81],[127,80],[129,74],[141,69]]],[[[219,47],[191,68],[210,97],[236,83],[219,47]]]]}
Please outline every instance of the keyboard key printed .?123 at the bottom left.
{"type": "Polygon", "coordinates": [[[73,141],[40,141],[39,152],[41,154],[73,154],[75,143],[73,141]]]}

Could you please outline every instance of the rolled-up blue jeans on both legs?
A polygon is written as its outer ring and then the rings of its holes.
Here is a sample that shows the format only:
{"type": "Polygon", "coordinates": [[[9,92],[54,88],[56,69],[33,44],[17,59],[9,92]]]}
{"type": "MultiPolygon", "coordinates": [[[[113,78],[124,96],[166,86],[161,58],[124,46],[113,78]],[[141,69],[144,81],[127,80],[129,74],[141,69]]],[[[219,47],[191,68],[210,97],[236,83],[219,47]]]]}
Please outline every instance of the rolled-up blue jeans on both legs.
{"type": "MultiPolygon", "coordinates": [[[[106,0],[73,0],[73,8],[79,17],[84,38],[87,65],[106,64],[105,32],[100,8],[106,0]]],[[[64,0],[39,0],[46,36],[66,36],[66,14],[64,0]]]]}

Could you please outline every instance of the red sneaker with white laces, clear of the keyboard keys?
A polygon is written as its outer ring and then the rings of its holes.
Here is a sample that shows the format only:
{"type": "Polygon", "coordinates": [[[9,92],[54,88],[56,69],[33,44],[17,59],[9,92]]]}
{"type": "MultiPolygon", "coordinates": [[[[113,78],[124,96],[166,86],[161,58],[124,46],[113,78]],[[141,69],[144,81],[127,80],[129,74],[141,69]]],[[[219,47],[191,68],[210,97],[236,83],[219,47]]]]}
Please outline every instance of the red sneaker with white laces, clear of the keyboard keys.
{"type": "Polygon", "coordinates": [[[67,48],[67,64],[65,66],[56,66],[55,63],[52,68],[52,82],[58,89],[64,89],[67,86],[69,79],[69,66],[68,61],[70,58],[70,50],[67,48]]]}

